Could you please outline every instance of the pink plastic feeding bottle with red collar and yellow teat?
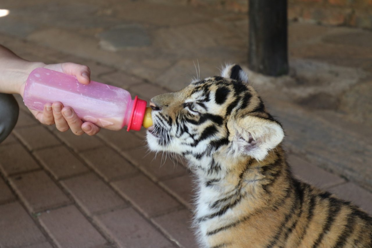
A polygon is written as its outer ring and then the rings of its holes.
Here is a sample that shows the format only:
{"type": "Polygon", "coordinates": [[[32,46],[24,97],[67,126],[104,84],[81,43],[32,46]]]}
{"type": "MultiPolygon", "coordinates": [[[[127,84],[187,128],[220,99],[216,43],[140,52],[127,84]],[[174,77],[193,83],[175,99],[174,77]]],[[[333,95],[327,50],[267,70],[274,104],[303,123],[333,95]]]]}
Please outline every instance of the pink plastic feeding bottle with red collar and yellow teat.
{"type": "Polygon", "coordinates": [[[110,130],[126,126],[127,131],[138,131],[144,118],[145,127],[152,124],[147,102],[137,96],[132,100],[128,91],[94,81],[83,85],[74,76],[45,68],[31,72],[23,101],[29,109],[38,111],[43,111],[47,103],[62,102],[72,107],[81,120],[110,130]]]}

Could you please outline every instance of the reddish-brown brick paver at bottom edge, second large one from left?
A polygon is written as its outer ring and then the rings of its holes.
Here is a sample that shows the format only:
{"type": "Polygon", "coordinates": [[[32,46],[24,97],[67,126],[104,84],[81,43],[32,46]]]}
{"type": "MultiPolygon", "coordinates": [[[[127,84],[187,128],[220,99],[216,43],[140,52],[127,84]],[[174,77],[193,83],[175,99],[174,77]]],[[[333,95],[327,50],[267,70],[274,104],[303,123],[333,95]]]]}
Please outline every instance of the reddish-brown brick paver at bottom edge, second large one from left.
{"type": "Polygon", "coordinates": [[[106,243],[75,206],[42,213],[39,220],[58,247],[91,248],[106,243]]]}

